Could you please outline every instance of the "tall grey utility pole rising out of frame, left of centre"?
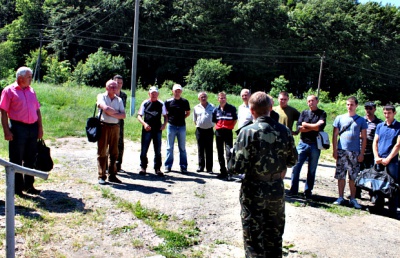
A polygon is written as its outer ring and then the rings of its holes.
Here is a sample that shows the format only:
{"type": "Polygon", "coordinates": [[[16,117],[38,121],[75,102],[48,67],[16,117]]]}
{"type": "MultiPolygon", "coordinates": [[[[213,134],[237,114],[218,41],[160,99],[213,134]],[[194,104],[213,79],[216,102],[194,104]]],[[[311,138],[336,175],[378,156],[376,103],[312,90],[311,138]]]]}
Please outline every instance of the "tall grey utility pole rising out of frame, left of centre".
{"type": "Polygon", "coordinates": [[[136,102],[136,70],[137,70],[137,44],[139,35],[139,2],[135,0],[135,23],[133,27],[132,73],[131,73],[131,116],[135,114],[136,102]]]}

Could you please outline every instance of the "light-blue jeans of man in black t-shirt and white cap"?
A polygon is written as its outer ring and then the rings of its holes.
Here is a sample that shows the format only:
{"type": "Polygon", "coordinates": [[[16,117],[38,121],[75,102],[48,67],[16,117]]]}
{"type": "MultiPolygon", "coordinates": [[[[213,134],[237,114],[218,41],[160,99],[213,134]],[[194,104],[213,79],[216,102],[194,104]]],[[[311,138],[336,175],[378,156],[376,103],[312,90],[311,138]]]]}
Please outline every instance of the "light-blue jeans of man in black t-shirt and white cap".
{"type": "Polygon", "coordinates": [[[165,168],[172,168],[174,163],[174,143],[175,137],[178,139],[179,149],[179,166],[181,169],[187,169],[187,155],[186,155],[186,126],[167,125],[167,156],[165,160],[165,168]]]}

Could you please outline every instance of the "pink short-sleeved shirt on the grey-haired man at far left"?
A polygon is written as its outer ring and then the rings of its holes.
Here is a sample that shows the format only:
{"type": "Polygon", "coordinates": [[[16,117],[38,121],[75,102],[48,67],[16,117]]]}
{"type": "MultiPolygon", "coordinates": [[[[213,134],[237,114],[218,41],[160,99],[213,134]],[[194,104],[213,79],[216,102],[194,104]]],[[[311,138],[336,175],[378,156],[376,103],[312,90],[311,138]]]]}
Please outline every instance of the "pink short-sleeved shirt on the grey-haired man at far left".
{"type": "Polygon", "coordinates": [[[7,112],[9,119],[33,124],[38,120],[37,110],[40,104],[31,86],[22,89],[14,82],[3,89],[0,108],[7,112]]]}

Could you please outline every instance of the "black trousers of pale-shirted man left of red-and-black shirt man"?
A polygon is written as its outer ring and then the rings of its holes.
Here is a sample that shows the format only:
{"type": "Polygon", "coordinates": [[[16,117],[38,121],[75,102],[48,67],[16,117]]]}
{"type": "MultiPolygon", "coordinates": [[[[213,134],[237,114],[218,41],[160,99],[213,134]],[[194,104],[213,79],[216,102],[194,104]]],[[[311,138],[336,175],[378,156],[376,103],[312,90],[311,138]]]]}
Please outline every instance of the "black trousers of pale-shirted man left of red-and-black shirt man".
{"type": "Polygon", "coordinates": [[[213,167],[213,143],[214,130],[213,128],[202,129],[196,128],[197,139],[197,158],[199,168],[206,168],[207,171],[212,171],[213,167]]]}

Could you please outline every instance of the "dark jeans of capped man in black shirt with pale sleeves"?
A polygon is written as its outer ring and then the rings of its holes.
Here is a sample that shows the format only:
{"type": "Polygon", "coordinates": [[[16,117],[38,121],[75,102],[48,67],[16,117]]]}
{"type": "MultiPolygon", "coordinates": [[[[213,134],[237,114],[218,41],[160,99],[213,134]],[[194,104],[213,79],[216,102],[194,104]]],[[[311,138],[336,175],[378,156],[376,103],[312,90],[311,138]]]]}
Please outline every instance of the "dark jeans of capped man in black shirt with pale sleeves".
{"type": "Polygon", "coordinates": [[[148,159],[147,152],[150,147],[150,142],[153,141],[154,148],[154,169],[161,168],[161,130],[146,131],[142,128],[142,150],[140,152],[140,167],[147,168],[148,159]]]}

